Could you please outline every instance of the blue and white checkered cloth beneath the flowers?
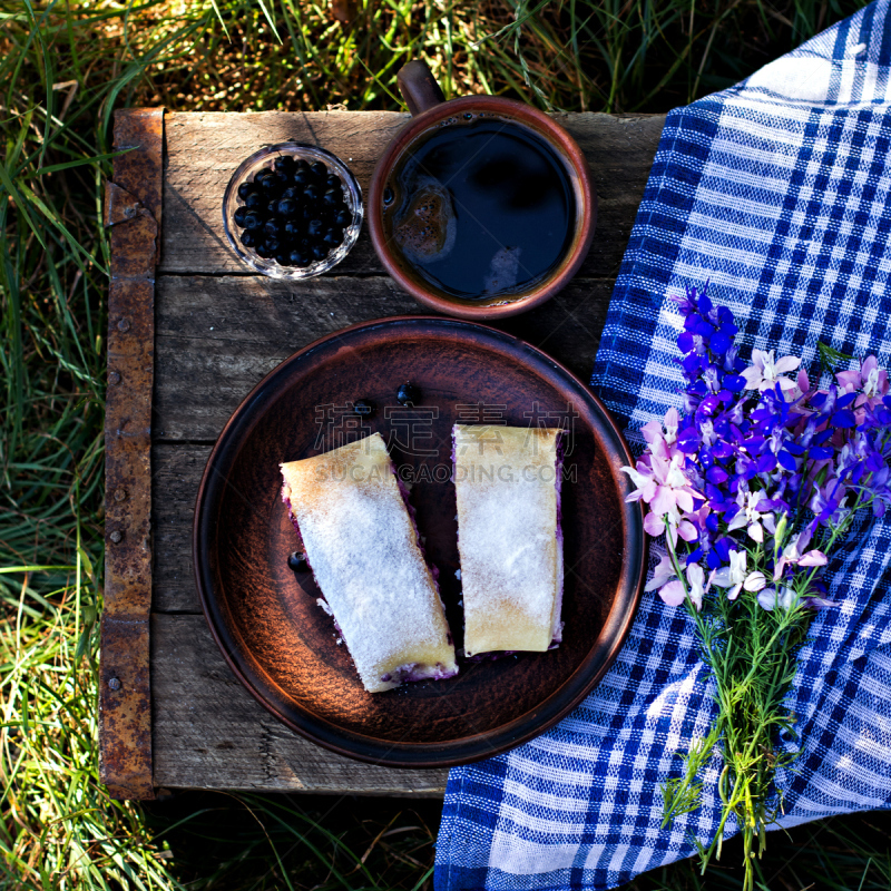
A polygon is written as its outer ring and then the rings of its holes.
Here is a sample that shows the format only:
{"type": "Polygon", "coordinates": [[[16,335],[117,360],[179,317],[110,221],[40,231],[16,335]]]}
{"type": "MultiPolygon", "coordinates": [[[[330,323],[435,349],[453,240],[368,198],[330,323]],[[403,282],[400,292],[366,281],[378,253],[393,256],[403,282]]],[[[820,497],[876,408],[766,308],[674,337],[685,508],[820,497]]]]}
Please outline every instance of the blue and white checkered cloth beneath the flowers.
{"type": "MultiPolygon", "coordinates": [[[[613,295],[593,383],[636,431],[679,405],[666,295],[711,281],[748,349],[817,343],[891,364],[891,18],[880,0],[742,84],[668,115],[613,295]]],[[[639,448],[639,446],[638,446],[639,448]]],[[[801,756],[784,825],[891,807],[891,520],[852,536],[799,658],[801,756]]],[[[451,772],[437,891],[606,889],[708,841],[699,811],[662,830],[659,784],[702,737],[712,691],[685,613],[645,595],[616,664],[569,717],[451,772]]],[[[799,745],[787,738],[784,745],[799,745]]],[[[735,832],[728,826],[727,834],[735,832]]]]}

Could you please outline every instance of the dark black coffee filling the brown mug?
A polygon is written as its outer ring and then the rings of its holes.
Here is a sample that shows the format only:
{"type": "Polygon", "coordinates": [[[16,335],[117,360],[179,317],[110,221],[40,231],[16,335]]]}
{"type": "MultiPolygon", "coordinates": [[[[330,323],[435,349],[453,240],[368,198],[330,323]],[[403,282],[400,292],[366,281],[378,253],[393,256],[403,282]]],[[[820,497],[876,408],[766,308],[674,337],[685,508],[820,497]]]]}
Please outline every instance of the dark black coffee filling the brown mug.
{"type": "Polygon", "coordinates": [[[384,189],[384,231],[433,287],[456,297],[520,293],[572,241],[576,202],[557,153],[522,125],[480,118],[433,131],[384,189]]]}

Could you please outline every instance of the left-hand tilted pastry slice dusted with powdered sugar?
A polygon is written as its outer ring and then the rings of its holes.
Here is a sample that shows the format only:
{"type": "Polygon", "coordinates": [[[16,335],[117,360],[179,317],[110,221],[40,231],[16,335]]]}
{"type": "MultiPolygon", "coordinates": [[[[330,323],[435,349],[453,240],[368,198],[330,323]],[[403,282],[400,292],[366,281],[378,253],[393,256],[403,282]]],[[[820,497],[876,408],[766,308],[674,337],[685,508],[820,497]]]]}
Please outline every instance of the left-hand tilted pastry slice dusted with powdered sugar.
{"type": "Polygon", "coordinates": [[[437,581],[380,433],[282,464],[315,579],[369,693],[458,673],[437,581]]]}

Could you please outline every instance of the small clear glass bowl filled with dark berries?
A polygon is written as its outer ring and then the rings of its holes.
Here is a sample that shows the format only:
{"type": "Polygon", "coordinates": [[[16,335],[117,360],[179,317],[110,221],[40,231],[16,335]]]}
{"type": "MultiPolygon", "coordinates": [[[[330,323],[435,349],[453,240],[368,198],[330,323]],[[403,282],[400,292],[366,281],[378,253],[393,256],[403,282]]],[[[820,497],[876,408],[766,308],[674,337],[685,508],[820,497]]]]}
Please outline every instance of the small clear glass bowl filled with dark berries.
{"type": "Polygon", "coordinates": [[[362,228],[362,189],[316,146],[263,148],[233,174],[223,198],[232,249],[273,278],[310,278],[337,265],[362,228]]]}

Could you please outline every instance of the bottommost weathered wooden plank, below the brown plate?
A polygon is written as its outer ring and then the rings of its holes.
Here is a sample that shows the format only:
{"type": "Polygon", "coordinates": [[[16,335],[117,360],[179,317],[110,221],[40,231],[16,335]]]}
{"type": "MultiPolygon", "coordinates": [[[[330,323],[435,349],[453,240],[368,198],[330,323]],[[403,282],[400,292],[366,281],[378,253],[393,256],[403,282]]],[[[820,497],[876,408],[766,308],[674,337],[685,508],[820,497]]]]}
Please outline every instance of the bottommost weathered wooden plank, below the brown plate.
{"type": "Polygon", "coordinates": [[[238,683],[203,616],[151,617],[155,785],[439,797],[447,770],[335,755],[290,731],[238,683]]]}

